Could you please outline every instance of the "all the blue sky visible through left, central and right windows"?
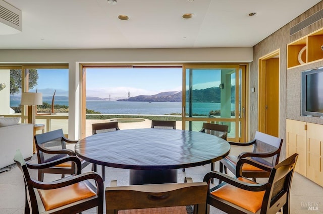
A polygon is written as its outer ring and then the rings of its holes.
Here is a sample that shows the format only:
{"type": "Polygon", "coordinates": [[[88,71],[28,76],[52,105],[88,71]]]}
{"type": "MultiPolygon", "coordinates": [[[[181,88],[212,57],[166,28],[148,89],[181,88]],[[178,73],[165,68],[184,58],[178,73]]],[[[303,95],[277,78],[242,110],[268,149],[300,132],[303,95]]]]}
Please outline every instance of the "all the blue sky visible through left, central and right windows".
{"type": "MultiPolygon", "coordinates": [[[[37,69],[38,92],[43,96],[68,96],[68,69],[37,69]]],[[[194,89],[220,84],[220,70],[194,73],[194,89]]],[[[34,92],[36,88],[30,90],[34,92]]],[[[182,68],[87,68],[86,96],[111,98],[154,95],[182,90],[182,68]]]]}

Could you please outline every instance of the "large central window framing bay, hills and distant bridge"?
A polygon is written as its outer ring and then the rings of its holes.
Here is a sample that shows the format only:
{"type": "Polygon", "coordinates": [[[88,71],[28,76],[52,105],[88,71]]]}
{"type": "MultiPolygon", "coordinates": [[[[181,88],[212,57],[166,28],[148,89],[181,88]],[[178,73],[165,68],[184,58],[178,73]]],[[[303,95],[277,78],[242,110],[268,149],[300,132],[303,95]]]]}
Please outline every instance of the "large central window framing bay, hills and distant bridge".
{"type": "Polygon", "coordinates": [[[150,120],[175,120],[181,129],[182,67],[87,67],[86,135],[92,134],[92,123],[102,120],[118,121],[121,129],[150,128],[150,120]]]}

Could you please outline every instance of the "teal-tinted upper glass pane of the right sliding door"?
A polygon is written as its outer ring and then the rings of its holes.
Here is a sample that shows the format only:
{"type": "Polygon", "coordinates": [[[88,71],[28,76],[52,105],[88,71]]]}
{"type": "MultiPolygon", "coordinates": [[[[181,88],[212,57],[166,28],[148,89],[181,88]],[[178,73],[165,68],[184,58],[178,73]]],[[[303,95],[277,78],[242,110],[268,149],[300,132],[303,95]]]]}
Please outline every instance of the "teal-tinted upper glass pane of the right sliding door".
{"type": "Polygon", "coordinates": [[[186,117],[235,116],[235,69],[186,69],[186,117]]]}

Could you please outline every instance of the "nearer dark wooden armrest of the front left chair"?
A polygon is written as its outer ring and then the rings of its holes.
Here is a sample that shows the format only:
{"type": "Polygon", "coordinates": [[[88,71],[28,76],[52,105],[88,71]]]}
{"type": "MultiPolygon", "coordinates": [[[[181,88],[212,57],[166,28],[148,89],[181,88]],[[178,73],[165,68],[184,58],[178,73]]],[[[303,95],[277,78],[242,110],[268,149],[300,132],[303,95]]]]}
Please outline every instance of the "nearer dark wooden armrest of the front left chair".
{"type": "Polygon", "coordinates": [[[96,182],[98,191],[97,194],[103,195],[103,179],[96,172],[86,172],[80,175],[69,176],[52,182],[41,182],[32,179],[32,183],[36,189],[57,189],[90,179],[95,180],[96,182]]]}

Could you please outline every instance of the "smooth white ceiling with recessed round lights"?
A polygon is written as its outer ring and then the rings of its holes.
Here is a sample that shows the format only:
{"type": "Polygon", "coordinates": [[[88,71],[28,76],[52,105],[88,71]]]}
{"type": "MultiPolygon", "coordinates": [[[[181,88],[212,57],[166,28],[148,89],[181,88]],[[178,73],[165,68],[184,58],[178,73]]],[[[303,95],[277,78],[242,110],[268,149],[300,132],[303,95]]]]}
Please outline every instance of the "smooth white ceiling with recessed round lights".
{"type": "Polygon", "coordinates": [[[22,11],[23,30],[0,35],[0,49],[75,49],[252,47],[320,0],[6,2],[22,11]]]}

